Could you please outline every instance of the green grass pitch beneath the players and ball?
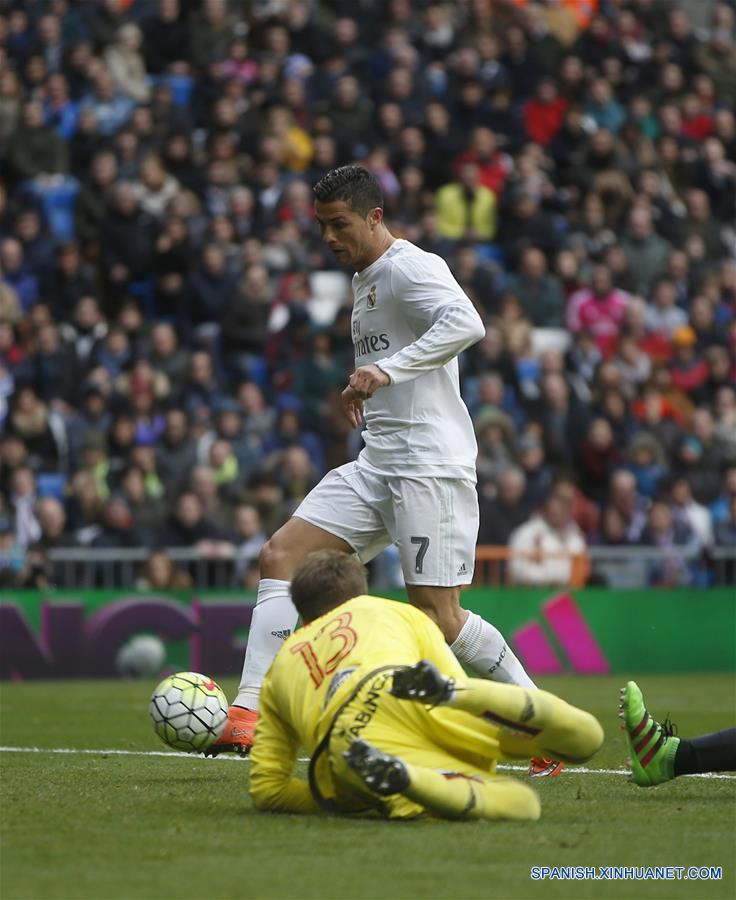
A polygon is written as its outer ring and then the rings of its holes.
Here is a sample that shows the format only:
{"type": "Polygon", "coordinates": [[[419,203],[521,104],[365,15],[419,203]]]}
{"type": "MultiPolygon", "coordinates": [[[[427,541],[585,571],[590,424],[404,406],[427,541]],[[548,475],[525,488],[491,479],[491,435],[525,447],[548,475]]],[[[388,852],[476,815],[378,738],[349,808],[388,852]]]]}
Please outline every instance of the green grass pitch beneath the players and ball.
{"type": "MultiPolygon", "coordinates": [[[[620,678],[542,686],[606,729],[590,763],[625,756],[620,678]]],[[[734,724],[729,675],[643,676],[649,708],[688,736],[734,724]]],[[[224,683],[232,695],[233,683],[224,683]]],[[[604,898],[736,897],[736,780],[642,790],[622,775],[537,779],[542,819],[386,823],[257,813],[243,760],[165,751],[147,682],[0,687],[0,744],[96,752],[0,753],[0,897],[604,898]],[[722,866],[720,881],[532,881],[532,866],[722,866]]]]}

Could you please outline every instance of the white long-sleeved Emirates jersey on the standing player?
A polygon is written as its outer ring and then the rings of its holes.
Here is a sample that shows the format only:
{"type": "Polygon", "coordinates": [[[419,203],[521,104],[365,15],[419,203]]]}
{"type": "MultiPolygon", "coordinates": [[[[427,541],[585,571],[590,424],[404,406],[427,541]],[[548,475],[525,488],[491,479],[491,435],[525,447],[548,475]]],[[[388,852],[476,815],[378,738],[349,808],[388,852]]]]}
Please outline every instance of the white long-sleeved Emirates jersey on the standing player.
{"type": "Polygon", "coordinates": [[[359,462],[386,475],[475,479],[473,423],[457,356],[485,328],[447,263],[397,240],[353,276],[355,366],[391,379],[364,404],[359,462]]]}

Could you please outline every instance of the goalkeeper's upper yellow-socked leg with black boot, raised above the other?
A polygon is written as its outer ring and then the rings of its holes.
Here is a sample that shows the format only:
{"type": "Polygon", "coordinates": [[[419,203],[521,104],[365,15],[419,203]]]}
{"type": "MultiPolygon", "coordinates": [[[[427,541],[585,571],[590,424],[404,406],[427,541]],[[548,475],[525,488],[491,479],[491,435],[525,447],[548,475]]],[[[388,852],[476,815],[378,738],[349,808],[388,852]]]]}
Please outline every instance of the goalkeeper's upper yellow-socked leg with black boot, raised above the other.
{"type": "Polygon", "coordinates": [[[488,722],[506,757],[540,754],[580,763],[603,743],[598,720],[554,694],[481,678],[447,678],[427,660],[397,670],[391,693],[405,700],[463,710],[488,722]]]}

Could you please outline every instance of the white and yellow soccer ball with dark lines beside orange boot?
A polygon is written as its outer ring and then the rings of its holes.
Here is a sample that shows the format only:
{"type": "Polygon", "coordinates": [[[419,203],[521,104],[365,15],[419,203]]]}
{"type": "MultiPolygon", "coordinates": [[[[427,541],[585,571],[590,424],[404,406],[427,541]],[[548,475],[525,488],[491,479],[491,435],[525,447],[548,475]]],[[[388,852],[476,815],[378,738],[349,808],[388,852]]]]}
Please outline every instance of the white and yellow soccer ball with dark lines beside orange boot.
{"type": "Polygon", "coordinates": [[[198,672],[178,672],[159,684],[148,707],[153,728],[175,750],[198,753],[214,744],[227,722],[222,688],[198,672]]]}

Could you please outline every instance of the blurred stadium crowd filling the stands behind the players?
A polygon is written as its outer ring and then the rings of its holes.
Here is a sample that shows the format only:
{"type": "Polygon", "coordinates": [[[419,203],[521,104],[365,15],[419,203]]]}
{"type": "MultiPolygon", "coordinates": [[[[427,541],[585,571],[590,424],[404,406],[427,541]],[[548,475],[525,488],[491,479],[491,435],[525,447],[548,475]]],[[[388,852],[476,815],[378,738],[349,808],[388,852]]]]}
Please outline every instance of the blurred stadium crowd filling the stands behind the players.
{"type": "Polygon", "coordinates": [[[479,543],[708,583],[680,548],[736,545],[734,109],[733,0],[700,29],[670,0],[0,0],[3,583],[139,546],[257,580],[360,449],[310,191],[353,161],[487,324],[479,543]]]}

